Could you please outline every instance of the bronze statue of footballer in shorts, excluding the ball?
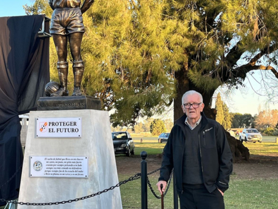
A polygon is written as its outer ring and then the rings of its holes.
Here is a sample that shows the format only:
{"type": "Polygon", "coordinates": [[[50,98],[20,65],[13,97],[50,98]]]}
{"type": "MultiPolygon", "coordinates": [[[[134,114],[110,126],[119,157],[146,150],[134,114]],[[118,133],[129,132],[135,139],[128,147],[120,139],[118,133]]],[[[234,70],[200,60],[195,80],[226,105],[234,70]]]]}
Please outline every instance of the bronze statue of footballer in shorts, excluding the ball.
{"type": "Polygon", "coordinates": [[[69,39],[70,53],[73,59],[74,89],[72,96],[81,96],[80,85],[84,72],[84,62],[81,58],[80,46],[84,33],[82,13],[84,13],[94,0],[48,0],[54,10],[51,18],[50,33],[58,54],[57,69],[61,83],[60,89],[51,94],[51,97],[68,96],[67,43],[69,39]]]}

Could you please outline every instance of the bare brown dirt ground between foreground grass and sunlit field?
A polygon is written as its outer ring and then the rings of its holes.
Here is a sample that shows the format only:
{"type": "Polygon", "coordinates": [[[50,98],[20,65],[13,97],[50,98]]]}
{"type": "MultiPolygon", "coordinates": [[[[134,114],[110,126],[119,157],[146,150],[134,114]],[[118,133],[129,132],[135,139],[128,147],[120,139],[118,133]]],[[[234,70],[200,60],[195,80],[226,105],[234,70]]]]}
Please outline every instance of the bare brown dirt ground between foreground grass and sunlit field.
{"type": "MultiPolygon", "coordinates": [[[[161,158],[150,155],[146,158],[147,172],[161,166],[161,158]]],[[[140,173],[139,156],[116,156],[118,174],[133,176],[140,173]]],[[[244,160],[233,164],[233,177],[236,179],[278,179],[278,155],[250,155],[250,162],[244,160]]]]}

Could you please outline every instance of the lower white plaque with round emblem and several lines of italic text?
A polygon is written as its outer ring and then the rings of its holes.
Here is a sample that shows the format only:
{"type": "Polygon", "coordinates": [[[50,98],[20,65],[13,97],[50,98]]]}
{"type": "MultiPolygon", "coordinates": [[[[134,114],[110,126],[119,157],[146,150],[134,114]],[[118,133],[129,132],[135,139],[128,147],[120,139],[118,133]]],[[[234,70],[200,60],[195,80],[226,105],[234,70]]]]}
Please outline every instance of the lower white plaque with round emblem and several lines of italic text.
{"type": "Polygon", "coordinates": [[[88,157],[30,156],[30,177],[88,178],[88,157]]]}

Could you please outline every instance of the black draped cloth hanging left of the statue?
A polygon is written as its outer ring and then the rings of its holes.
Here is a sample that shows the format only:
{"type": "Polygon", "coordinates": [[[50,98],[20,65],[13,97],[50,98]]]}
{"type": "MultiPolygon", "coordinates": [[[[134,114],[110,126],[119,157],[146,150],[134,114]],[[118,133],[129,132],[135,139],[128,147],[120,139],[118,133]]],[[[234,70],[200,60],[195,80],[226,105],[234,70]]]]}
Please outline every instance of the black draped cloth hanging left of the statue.
{"type": "Polygon", "coordinates": [[[43,20],[44,15],[0,17],[0,199],[18,198],[23,162],[18,115],[36,110],[49,82],[49,38],[38,37],[43,20]]]}

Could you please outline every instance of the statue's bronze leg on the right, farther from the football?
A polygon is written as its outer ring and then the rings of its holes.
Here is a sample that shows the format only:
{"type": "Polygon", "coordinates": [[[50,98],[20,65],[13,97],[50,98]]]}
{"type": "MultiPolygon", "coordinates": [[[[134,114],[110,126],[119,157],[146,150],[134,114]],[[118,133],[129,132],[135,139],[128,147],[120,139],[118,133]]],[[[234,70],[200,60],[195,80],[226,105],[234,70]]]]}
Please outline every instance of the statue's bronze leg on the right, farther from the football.
{"type": "Polygon", "coordinates": [[[81,96],[81,81],[84,73],[84,62],[81,58],[81,41],[83,33],[76,32],[69,35],[70,53],[73,58],[74,89],[72,96],[81,96]]]}

